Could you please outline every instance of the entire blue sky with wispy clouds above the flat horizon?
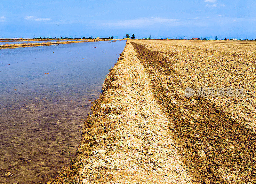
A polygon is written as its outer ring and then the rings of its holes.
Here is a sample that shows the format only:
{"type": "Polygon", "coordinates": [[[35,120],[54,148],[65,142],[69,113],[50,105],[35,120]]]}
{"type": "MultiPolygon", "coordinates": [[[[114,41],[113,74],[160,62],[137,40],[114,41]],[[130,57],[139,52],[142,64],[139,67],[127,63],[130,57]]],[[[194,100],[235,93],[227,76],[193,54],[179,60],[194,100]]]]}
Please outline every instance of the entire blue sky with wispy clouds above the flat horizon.
{"type": "Polygon", "coordinates": [[[0,37],[256,39],[255,0],[0,0],[0,37]]]}

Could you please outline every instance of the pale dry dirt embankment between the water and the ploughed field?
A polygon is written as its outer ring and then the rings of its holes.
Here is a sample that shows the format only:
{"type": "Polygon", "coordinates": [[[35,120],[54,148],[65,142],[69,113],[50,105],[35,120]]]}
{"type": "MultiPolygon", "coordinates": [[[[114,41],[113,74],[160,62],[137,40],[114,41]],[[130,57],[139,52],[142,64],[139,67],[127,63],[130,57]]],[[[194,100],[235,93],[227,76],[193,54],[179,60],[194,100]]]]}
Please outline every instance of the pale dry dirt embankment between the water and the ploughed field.
{"type": "Polygon", "coordinates": [[[157,103],[131,43],[102,89],[84,124],[79,174],[74,165],[73,173],[63,171],[59,182],[191,183],[168,134],[166,110],[157,103]]]}

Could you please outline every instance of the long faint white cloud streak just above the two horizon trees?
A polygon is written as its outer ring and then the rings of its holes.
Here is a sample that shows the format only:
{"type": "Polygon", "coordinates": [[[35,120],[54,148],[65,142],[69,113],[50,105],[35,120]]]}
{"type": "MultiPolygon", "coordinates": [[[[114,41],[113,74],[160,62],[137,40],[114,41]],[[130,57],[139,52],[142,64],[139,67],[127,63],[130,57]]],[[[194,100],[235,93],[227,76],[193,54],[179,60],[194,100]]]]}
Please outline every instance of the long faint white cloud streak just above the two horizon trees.
{"type": "Polygon", "coordinates": [[[117,27],[143,27],[154,24],[177,24],[178,19],[164,18],[140,18],[130,20],[118,20],[116,22],[102,23],[102,26],[117,26],[117,27]]]}

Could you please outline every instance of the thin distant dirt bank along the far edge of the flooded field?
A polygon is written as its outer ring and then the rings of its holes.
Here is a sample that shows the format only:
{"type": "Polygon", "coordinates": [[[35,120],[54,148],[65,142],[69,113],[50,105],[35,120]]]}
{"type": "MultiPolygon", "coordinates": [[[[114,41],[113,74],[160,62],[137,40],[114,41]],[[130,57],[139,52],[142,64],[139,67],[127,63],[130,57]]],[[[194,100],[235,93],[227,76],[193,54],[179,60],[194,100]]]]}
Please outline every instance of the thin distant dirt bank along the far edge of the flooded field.
{"type": "Polygon", "coordinates": [[[17,47],[32,47],[32,46],[41,46],[41,45],[57,45],[57,44],[80,43],[80,42],[98,42],[98,41],[107,41],[107,40],[79,40],[79,41],[68,41],[68,42],[5,44],[5,45],[0,45],[0,49],[12,49],[17,47]]]}

